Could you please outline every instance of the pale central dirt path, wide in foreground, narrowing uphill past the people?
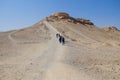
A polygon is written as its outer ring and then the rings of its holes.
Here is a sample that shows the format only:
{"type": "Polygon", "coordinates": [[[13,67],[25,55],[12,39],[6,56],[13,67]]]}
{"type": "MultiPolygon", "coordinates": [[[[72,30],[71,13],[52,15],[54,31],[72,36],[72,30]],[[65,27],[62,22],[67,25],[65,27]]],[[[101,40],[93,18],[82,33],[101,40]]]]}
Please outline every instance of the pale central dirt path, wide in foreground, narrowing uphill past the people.
{"type": "MultiPolygon", "coordinates": [[[[48,27],[50,27],[55,32],[58,32],[54,27],[52,27],[48,22],[46,22],[48,27]]],[[[64,59],[64,55],[66,54],[66,50],[68,50],[68,46],[65,44],[64,46],[57,44],[53,38],[52,48],[49,48],[50,53],[46,54],[49,55],[48,68],[46,70],[46,75],[44,80],[92,80],[83,72],[79,72],[73,67],[64,64],[62,60],[64,59]]],[[[75,44],[73,44],[75,46],[75,44]]],[[[48,50],[48,51],[49,51],[48,50]]],[[[44,58],[45,59],[45,58],[44,58]]]]}

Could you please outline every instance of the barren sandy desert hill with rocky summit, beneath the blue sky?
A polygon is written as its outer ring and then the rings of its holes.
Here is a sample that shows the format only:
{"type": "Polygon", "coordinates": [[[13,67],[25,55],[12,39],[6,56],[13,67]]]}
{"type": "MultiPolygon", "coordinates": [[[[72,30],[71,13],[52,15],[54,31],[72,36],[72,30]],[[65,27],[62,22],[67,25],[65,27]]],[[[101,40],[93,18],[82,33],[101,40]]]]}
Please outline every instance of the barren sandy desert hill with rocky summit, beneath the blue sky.
{"type": "Polygon", "coordinates": [[[0,80],[119,80],[119,48],[116,27],[54,13],[28,28],[0,32],[0,80]]]}

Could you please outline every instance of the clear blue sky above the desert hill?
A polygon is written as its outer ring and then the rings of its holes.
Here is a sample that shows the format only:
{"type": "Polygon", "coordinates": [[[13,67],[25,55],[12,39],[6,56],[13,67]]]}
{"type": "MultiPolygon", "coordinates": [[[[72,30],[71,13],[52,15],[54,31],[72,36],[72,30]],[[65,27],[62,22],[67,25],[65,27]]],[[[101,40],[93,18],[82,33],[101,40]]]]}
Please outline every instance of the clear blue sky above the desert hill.
{"type": "Polygon", "coordinates": [[[0,31],[32,26],[54,12],[120,29],[120,0],[0,0],[0,31]]]}

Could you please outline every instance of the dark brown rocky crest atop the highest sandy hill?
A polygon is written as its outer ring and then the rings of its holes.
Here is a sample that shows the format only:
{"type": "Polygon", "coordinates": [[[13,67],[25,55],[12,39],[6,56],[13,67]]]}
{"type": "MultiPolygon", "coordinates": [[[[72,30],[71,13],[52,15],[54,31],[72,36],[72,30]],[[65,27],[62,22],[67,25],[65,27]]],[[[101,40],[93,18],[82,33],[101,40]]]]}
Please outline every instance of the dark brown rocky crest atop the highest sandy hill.
{"type": "Polygon", "coordinates": [[[73,17],[69,16],[68,13],[65,13],[65,12],[53,13],[51,16],[47,17],[46,19],[47,19],[47,21],[66,20],[68,22],[75,23],[75,24],[94,25],[93,22],[91,22],[88,19],[73,18],[73,17]]]}

